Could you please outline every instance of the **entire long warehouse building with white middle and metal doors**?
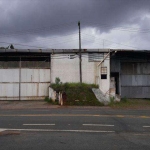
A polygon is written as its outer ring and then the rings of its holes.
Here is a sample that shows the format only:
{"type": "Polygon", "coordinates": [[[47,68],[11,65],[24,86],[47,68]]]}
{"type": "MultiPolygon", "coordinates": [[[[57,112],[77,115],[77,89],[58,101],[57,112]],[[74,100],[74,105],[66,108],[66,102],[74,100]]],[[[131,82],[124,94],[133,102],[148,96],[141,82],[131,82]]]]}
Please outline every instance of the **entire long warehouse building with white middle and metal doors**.
{"type": "MultiPolygon", "coordinates": [[[[104,96],[150,98],[150,51],[82,49],[82,82],[104,96]]],[[[2,49],[0,100],[39,100],[49,86],[80,82],[78,49],[2,49]]]]}

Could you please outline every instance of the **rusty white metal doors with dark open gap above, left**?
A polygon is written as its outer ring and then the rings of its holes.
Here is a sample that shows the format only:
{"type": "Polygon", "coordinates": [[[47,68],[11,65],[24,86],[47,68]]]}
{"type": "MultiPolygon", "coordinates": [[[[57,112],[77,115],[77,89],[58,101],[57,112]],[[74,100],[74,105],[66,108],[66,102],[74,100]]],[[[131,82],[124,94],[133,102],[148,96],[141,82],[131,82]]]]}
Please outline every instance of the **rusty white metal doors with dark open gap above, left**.
{"type": "Polygon", "coordinates": [[[44,99],[49,85],[50,56],[0,57],[0,100],[44,99]]]}

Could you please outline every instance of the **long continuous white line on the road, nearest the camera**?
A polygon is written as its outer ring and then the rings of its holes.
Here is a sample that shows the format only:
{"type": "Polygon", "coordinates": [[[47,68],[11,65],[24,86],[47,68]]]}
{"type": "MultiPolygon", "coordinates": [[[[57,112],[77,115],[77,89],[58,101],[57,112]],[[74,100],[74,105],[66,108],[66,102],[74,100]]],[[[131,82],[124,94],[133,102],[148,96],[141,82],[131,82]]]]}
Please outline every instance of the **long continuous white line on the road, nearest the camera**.
{"type": "Polygon", "coordinates": [[[115,131],[99,130],[48,130],[48,129],[5,129],[8,131],[30,131],[30,132],[84,132],[84,133],[114,133],[115,131]]]}

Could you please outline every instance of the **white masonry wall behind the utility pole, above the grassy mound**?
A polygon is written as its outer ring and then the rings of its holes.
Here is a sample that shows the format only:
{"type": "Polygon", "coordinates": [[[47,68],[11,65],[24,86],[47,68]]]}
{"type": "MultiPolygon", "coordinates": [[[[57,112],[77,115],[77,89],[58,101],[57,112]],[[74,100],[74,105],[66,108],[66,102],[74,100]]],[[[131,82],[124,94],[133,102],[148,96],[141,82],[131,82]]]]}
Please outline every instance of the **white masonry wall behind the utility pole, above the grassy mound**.
{"type": "MultiPolygon", "coordinates": [[[[65,54],[66,55],[66,54],[65,54]]],[[[69,55],[69,54],[68,54],[69,55]]],[[[88,54],[87,54],[88,56],[88,54]]],[[[52,58],[59,57],[54,54],[52,58]]],[[[82,58],[82,81],[85,83],[95,83],[96,63],[88,62],[88,57],[82,58]]],[[[65,82],[80,82],[79,75],[79,57],[74,59],[52,59],[51,60],[51,81],[55,82],[55,78],[59,77],[60,80],[65,82]]]]}

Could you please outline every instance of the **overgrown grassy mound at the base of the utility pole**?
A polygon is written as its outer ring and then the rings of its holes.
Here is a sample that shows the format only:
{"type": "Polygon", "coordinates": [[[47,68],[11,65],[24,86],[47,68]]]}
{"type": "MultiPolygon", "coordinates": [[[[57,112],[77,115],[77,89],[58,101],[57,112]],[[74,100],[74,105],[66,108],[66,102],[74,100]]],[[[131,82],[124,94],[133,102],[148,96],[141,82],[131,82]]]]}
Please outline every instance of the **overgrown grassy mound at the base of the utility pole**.
{"type": "Polygon", "coordinates": [[[92,88],[98,88],[94,84],[85,83],[60,83],[51,84],[51,87],[57,92],[66,93],[66,105],[77,105],[77,106],[102,106],[94,93],[92,88]]]}

